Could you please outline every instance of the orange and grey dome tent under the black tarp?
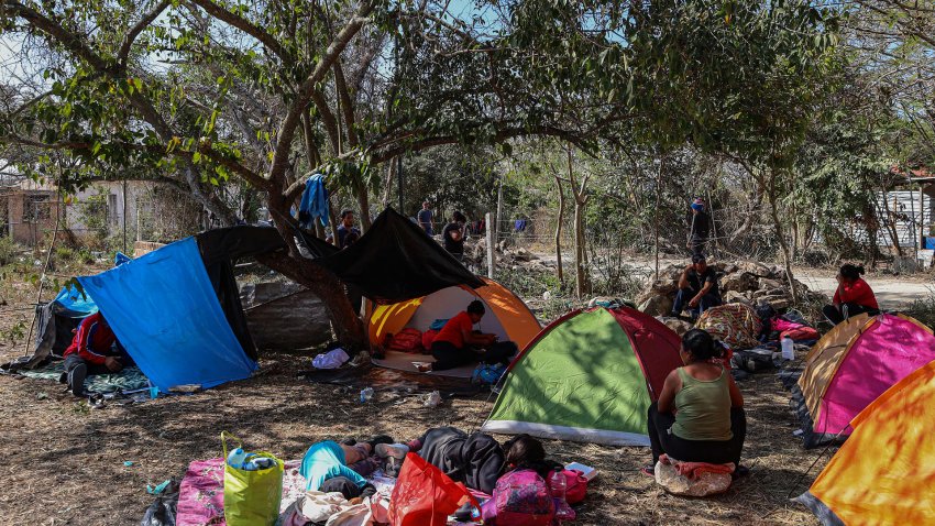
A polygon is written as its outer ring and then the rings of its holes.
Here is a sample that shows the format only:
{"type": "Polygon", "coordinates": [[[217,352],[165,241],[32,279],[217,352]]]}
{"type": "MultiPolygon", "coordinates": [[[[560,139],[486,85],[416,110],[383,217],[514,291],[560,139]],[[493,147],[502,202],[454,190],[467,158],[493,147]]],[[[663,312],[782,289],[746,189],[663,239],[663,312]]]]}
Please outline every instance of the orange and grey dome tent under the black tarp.
{"type": "Polygon", "coordinates": [[[396,335],[405,328],[425,332],[436,320],[450,319],[464,310],[468,304],[480,299],[487,309],[480,329],[497,335],[502,340],[512,340],[522,349],[542,326],[516,294],[493,280],[482,280],[484,286],[477,288],[453,286],[408,302],[377,306],[370,304],[367,330],[371,342],[383,344],[386,335],[396,335]]]}

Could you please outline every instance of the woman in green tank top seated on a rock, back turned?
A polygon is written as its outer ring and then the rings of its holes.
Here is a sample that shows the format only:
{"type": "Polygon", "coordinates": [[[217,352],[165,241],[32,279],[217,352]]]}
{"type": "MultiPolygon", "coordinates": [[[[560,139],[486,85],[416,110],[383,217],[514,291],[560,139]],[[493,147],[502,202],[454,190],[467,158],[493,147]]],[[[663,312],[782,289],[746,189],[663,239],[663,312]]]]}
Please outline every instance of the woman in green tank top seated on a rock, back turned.
{"type": "Polygon", "coordinates": [[[744,397],[734,377],[716,361],[721,346],[702,329],[682,337],[679,351],[684,366],[666,377],[659,402],[649,407],[649,441],[652,465],[644,468],[654,474],[662,453],[685,462],[713,464],[733,462],[738,475],[740,450],[747,435],[744,397]]]}

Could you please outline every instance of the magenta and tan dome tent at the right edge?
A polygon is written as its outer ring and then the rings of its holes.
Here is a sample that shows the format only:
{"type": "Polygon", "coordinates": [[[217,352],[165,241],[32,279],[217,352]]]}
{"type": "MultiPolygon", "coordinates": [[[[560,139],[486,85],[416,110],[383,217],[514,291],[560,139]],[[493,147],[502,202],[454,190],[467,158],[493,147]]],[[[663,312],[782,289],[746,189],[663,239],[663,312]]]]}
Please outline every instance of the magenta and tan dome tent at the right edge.
{"type": "Polygon", "coordinates": [[[909,316],[861,316],[835,327],[806,358],[793,395],[805,447],[850,435],[858,413],[932,360],[932,329],[909,316]]]}

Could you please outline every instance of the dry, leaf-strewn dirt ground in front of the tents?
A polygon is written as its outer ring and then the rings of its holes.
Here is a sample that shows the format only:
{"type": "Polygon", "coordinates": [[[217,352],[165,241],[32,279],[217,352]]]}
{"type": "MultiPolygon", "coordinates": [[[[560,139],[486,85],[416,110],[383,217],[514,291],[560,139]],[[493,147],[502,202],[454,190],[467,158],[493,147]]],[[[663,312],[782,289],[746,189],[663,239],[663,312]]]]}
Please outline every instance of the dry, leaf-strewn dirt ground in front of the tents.
{"type": "MultiPolygon", "coordinates": [[[[4,361],[19,353],[9,347],[0,352],[4,361]]],[[[180,476],[191,460],[219,457],[222,430],[249,447],[298,459],[322,439],[374,434],[409,439],[442,425],[475,429],[492,407],[479,396],[425,409],[417,398],[381,392],[362,405],[355,392],[298,379],[295,371],[308,362],[307,355],[267,354],[251,380],[103,409],[88,409],[53,382],[0,377],[0,443],[7,452],[0,524],[139,524],[152,501],[146,484],[180,476]]],[[[638,473],[649,462],[648,449],[547,441],[554,458],[601,471],[575,524],[815,524],[787,494],[820,453],[803,451],[792,436],[788,396],[773,375],[741,388],[749,420],[744,458],[751,476],[715,498],[679,498],[656,487],[638,473]]]]}

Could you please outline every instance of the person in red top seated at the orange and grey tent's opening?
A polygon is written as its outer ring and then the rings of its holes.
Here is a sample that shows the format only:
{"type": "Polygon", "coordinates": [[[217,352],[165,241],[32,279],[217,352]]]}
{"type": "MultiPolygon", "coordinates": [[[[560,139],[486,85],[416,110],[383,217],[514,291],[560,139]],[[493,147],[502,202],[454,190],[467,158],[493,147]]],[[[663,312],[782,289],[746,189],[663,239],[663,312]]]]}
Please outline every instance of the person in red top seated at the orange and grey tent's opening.
{"type": "Polygon", "coordinates": [[[496,335],[474,331],[474,325],[481,322],[485,313],[484,304],[475,299],[466,310],[448,320],[432,341],[436,362],[420,365],[419,371],[446,371],[476,362],[508,364],[516,354],[516,343],[497,341],[496,335]]]}

